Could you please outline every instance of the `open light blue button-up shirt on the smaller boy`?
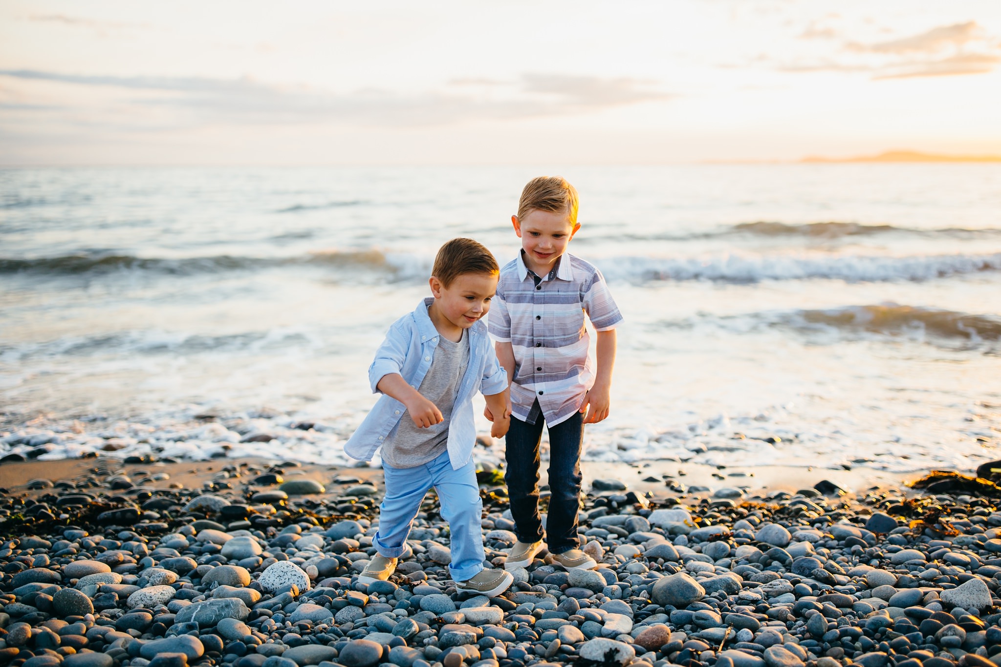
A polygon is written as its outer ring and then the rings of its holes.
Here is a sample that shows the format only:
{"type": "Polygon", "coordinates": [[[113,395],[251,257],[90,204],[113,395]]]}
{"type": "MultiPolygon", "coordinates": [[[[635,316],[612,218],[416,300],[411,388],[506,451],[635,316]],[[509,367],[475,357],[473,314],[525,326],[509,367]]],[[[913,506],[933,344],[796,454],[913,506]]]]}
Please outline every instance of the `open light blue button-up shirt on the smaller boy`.
{"type": "MultiPolygon", "coordinates": [[[[381,393],[378,382],[390,373],[398,373],[414,389],[420,386],[427,369],[431,367],[440,336],[427,315],[427,306],[433,301],[433,297],[427,297],[417,304],[412,313],[399,318],[389,327],[385,340],[375,352],[375,360],[368,367],[368,382],[373,393],[381,393]]],[[[491,396],[508,388],[508,374],[497,362],[493,343],[486,334],[486,325],[478,321],[469,327],[468,332],[469,363],[459,383],[448,423],[448,459],[455,470],[472,458],[472,446],[476,441],[472,397],[477,391],[491,396]]],[[[391,396],[380,396],[361,426],[344,444],[344,453],[359,461],[370,460],[379,445],[396,428],[405,410],[406,406],[391,396]]]]}

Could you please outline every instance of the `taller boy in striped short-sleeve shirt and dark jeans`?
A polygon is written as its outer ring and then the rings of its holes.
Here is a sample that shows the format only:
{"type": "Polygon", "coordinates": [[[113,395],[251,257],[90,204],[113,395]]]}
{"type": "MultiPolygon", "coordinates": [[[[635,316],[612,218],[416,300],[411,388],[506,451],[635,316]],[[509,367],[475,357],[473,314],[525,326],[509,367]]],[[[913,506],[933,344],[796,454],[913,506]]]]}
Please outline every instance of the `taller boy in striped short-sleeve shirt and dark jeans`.
{"type": "MultiPolygon", "coordinates": [[[[578,194],[565,179],[535,178],[512,216],[519,256],[500,269],[489,313],[497,359],[511,378],[511,427],[505,480],[518,542],[505,567],[527,567],[543,548],[539,444],[550,433],[547,547],[564,568],[593,569],[580,549],[584,425],[609,416],[616,325],[622,321],[601,272],[567,253],[581,228],[578,194]],[[585,314],[598,332],[597,363],[588,355],[585,314]]],[[[492,420],[489,410],[487,419],[492,420]]]]}

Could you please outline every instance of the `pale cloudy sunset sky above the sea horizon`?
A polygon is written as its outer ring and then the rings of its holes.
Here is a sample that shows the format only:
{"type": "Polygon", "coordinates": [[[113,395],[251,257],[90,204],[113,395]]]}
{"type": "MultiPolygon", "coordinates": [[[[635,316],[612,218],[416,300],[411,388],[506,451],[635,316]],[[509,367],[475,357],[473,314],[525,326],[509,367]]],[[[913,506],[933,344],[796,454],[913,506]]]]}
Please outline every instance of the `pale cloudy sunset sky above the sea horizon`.
{"type": "Polygon", "coordinates": [[[997,0],[5,0],[0,165],[1001,154],[997,0]]]}

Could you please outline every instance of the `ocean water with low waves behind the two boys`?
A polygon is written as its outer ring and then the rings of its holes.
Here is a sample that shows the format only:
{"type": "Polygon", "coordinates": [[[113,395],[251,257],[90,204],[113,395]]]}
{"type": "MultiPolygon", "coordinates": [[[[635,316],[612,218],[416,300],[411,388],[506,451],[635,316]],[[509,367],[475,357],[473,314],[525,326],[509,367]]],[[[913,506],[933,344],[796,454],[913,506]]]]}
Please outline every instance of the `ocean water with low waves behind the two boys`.
{"type": "MultiPolygon", "coordinates": [[[[1001,165],[549,171],[626,318],[586,458],[1001,458],[1001,165]]],[[[515,257],[539,173],[0,171],[0,455],[344,462],[436,248],[515,257]]]]}

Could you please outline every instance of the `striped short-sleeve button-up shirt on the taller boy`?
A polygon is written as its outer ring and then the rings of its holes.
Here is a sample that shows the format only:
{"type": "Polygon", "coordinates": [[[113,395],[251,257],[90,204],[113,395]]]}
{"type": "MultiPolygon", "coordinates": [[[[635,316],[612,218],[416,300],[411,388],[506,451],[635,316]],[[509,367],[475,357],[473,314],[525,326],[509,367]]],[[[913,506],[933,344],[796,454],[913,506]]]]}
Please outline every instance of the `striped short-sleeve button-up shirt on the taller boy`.
{"type": "Polygon", "coordinates": [[[595,383],[585,315],[598,331],[623,319],[601,271],[569,253],[559,261],[537,284],[519,253],[500,269],[488,315],[490,335],[515,351],[512,411],[535,422],[538,400],[550,426],[580,410],[595,383]]]}

